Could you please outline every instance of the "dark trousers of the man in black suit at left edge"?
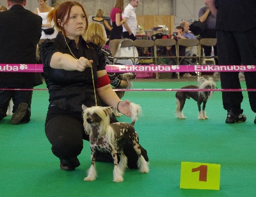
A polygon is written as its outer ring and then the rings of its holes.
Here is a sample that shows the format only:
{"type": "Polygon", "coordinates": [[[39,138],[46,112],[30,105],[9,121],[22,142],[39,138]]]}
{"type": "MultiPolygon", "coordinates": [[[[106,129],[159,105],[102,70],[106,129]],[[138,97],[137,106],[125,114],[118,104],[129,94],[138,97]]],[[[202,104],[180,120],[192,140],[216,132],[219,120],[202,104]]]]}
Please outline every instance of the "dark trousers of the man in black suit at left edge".
{"type": "MultiPolygon", "coordinates": [[[[33,89],[33,86],[20,84],[0,84],[0,88],[33,89]]],[[[0,90],[0,119],[6,116],[6,111],[11,99],[13,100],[13,113],[17,110],[19,104],[24,102],[28,104],[28,111],[30,116],[32,94],[33,91],[30,90],[0,90]]]]}

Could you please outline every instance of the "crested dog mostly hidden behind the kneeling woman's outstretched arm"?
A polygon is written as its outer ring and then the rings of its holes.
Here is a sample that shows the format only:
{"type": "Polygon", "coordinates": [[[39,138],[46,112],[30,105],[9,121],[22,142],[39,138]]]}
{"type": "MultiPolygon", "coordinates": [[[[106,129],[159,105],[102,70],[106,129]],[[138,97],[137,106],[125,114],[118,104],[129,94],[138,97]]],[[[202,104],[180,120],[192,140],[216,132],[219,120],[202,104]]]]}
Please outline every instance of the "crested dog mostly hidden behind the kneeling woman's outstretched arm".
{"type": "MultiPolygon", "coordinates": [[[[120,88],[113,87],[113,90],[116,90],[116,89],[131,89],[132,88],[132,80],[136,79],[136,74],[134,74],[132,72],[127,72],[127,73],[118,75],[118,79],[120,79],[120,81],[121,80],[127,81],[128,85],[127,86],[120,86],[120,88]]],[[[115,91],[115,93],[116,93],[116,95],[118,95],[118,97],[120,99],[122,99],[124,97],[125,91],[115,91]]],[[[115,114],[116,117],[122,116],[122,114],[119,113],[117,111],[117,109],[114,109],[114,114],[115,114]]]]}

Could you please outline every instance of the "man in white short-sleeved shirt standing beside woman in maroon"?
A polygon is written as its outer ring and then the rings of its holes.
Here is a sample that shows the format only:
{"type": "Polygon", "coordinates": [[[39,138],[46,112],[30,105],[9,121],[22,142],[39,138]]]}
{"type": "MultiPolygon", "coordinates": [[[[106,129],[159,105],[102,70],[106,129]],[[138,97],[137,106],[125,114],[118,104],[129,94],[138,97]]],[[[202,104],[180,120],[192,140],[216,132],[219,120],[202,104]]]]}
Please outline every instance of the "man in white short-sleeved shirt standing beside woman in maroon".
{"type": "Polygon", "coordinates": [[[136,40],[137,19],[135,9],[139,6],[139,3],[140,2],[138,0],[129,0],[129,4],[124,9],[124,13],[122,15],[125,22],[123,24],[123,38],[136,40]]]}

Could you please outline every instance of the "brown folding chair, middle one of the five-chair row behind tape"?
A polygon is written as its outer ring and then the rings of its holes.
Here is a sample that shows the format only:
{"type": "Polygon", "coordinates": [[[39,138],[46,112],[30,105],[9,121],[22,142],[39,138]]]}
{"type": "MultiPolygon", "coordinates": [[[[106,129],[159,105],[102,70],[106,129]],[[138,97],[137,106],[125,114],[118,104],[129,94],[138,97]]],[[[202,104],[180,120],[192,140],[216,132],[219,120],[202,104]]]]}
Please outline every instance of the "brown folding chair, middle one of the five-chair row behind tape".
{"type": "MultiPolygon", "coordinates": [[[[175,59],[175,62],[177,62],[177,56],[168,56],[166,47],[175,47],[175,54],[177,54],[177,42],[174,39],[157,39],[154,42],[154,54],[155,54],[155,63],[156,65],[167,65],[169,62],[169,59],[175,59]],[[165,56],[161,54],[161,48],[163,48],[165,52],[165,56]]],[[[159,79],[158,72],[156,73],[156,79],[159,79]]]]}

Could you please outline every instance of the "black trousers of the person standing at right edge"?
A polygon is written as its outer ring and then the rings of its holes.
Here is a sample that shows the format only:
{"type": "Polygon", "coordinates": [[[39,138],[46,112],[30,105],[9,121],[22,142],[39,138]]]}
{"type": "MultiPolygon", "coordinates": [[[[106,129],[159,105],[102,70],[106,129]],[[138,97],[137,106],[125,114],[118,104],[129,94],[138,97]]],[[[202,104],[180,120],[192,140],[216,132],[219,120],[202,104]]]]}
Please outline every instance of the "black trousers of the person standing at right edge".
{"type": "MultiPolygon", "coordinates": [[[[256,27],[246,32],[218,31],[219,65],[256,65],[256,27]]],[[[239,72],[221,72],[221,88],[240,89],[239,72]]],[[[256,88],[256,72],[244,72],[247,88],[256,88]]],[[[256,91],[248,91],[251,109],[256,113],[256,91]]],[[[241,91],[223,91],[223,107],[233,113],[243,113],[241,91]]]]}

